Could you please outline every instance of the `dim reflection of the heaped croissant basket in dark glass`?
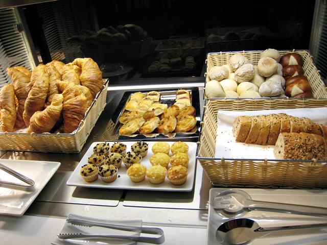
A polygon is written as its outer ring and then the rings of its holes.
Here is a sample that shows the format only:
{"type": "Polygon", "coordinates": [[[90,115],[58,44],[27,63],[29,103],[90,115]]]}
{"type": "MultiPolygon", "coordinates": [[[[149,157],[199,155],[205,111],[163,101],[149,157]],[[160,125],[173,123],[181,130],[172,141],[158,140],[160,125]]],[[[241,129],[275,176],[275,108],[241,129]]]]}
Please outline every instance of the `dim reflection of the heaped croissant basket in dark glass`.
{"type": "Polygon", "coordinates": [[[81,30],[81,35],[67,38],[68,43],[79,45],[85,57],[101,65],[112,59],[141,59],[149,53],[152,38],[136,24],[109,26],[97,32],[81,30]]]}

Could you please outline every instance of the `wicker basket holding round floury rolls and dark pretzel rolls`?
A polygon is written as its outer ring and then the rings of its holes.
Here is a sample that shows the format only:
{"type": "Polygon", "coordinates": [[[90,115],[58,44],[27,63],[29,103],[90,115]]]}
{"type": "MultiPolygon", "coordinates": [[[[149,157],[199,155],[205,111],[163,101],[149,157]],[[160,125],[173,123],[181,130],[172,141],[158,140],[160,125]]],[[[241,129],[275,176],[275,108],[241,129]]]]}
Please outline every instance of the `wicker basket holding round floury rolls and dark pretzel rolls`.
{"type": "MultiPolygon", "coordinates": [[[[228,64],[230,57],[233,54],[242,54],[246,56],[253,65],[257,65],[258,61],[260,60],[260,55],[262,51],[250,51],[250,52],[220,52],[220,53],[208,53],[206,59],[206,72],[204,74],[205,83],[209,81],[208,71],[214,66],[219,66],[223,64],[228,64]]],[[[297,53],[300,54],[303,58],[303,69],[305,71],[305,76],[307,76],[309,83],[312,87],[312,94],[314,95],[314,99],[296,99],[296,98],[270,98],[270,97],[263,97],[263,98],[255,98],[255,103],[262,103],[269,105],[271,104],[274,106],[275,104],[286,103],[285,106],[289,104],[298,104],[301,107],[303,104],[306,104],[307,107],[320,107],[327,105],[327,92],[326,86],[323,80],[320,77],[320,73],[315,66],[312,56],[309,51],[307,50],[282,50],[279,51],[281,56],[288,54],[288,53],[297,53]],[[276,100],[277,99],[277,100],[276,100]]],[[[205,89],[205,87],[204,87],[205,89]]],[[[204,95],[204,99],[207,99],[204,95]]],[[[233,104],[234,107],[238,108],[239,104],[244,104],[243,99],[237,98],[226,98],[222,100],[221,103],[226,104],[233,104]]],[[[287,107],[285,107],[287,108],[287,107]]],[[[266,109],[266,108],[265,108],[266,109]]],[[[273,108],[277,109],[277,108],[273,108]]]]}

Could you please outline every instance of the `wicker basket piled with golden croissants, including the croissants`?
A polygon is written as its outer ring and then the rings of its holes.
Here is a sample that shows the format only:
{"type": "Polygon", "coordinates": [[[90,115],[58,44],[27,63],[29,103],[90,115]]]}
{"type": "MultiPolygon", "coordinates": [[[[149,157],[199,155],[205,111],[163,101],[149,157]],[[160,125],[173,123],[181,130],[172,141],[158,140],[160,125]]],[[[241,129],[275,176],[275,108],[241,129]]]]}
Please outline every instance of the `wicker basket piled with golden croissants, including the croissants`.
{"type": "Polygon", "coordinates": [[[106,105],[107,81],[91,58],[7,68],[0,90],[0,149],[80,152],[106,105]]]}

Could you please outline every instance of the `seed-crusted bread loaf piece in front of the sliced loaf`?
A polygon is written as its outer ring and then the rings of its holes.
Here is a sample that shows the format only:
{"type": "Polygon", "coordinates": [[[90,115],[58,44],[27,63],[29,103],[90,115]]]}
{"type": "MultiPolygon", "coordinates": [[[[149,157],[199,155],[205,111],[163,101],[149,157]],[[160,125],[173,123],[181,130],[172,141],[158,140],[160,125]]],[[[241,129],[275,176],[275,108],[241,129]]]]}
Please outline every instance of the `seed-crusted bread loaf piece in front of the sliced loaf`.
{"type": "Polygon", "coordinates": [[[308,133],[279,134],[274,148],[276,159],[326,160],[327,143],[320,135],[308,133]],[[318,152],[318,148],[319,151],[318,152]]]}

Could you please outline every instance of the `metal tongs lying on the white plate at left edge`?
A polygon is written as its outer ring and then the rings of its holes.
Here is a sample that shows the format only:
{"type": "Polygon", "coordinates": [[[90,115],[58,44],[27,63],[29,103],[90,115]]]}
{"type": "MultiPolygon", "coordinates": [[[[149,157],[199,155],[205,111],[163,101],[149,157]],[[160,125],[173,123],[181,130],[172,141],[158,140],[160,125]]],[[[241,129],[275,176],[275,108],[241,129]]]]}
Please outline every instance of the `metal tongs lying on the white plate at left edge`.
{"type": "Polygon", "coordinates": [[[24,185],[24,184],[18,184],[18,183],[0,180],[0,187],[5,187],[5,188],[9,188],[9,189],[14,189],[14,190],[22,190],[22,191],[34,191],[36,189],[34,181],[31,180],[30,178],[17,173],[15,170],[13,170],[1,163],[0,163],[0,169],[6,171],[8,174],[10,174],[10,175],[14,176],[15,178],[26,183],[26,185],[24,185]]]}

